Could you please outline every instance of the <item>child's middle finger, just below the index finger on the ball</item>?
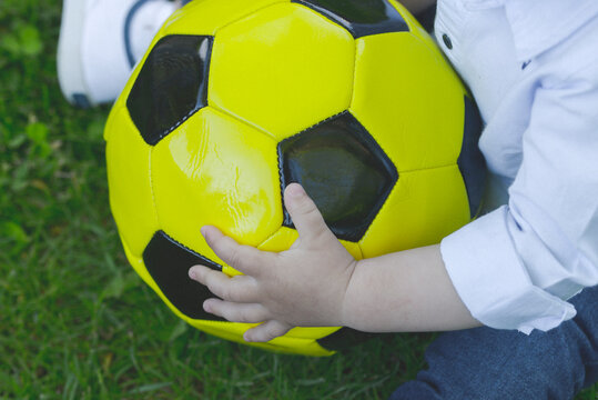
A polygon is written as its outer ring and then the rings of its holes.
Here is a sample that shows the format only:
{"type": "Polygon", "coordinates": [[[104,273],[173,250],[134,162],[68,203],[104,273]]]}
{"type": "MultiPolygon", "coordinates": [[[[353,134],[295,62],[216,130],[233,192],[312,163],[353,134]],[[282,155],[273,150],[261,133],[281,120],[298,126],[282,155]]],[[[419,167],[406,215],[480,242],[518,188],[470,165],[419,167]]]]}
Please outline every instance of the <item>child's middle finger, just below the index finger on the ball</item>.
{"type": "Polygon", "coordinates": [[[189,276],[226,301],[253,302],[259,293],[255,280],[247,276],[229,278],[226,274],[204,266],[192,267],[189,270],[189,276]]]}

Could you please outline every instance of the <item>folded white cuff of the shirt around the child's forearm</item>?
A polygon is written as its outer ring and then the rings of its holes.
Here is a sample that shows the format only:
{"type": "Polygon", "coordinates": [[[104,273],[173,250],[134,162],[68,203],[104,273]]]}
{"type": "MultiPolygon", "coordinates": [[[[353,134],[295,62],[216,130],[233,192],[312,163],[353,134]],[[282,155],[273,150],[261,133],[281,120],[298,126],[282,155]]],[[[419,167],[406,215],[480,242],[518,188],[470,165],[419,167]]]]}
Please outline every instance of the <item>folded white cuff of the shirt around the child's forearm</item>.
{"type": "Polygon", "coordinates": [[[575,308],[534,286],[517,256],[506,206],[468,223],[440,242],[453,284],[472,316],[490,328],[529,334],[576,314],[575,308]]]}

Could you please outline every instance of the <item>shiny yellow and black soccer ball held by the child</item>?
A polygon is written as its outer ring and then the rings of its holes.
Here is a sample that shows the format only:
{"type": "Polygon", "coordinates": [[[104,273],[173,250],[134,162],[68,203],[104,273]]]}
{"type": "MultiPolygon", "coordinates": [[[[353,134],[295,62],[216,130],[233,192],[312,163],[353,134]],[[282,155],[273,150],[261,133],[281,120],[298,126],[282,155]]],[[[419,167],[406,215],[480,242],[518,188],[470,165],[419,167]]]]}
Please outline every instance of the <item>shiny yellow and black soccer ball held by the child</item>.
{"type": "MultiPolygon", "coordinates": [[[[110,203],[126,257],[180,318],[243,342],[202,310],[196,263],[214,224],[282,251],[300,182],[356,258],[438,242],[480,202],[480,120],[434,41],[394,0],[195,0],[164,23],[113,106],[110,203]]],[[[326,356],[354,332],[295,328],[274,351],[326,356]]]]}

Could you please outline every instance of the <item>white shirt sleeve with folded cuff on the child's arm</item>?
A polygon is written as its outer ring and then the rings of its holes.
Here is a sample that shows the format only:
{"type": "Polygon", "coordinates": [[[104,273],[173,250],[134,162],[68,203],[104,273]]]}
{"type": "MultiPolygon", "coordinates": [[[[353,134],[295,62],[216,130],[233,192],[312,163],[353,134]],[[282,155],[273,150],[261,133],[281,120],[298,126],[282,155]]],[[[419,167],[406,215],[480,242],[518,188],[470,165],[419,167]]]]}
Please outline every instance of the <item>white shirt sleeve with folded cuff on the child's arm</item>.
{"type": "Polygon", "coordinates": [[[482,323],[549,330],[566,300],[598,283],[598,69],[535,92],[508,204],[440,243],[459,297],[482,323]]]}

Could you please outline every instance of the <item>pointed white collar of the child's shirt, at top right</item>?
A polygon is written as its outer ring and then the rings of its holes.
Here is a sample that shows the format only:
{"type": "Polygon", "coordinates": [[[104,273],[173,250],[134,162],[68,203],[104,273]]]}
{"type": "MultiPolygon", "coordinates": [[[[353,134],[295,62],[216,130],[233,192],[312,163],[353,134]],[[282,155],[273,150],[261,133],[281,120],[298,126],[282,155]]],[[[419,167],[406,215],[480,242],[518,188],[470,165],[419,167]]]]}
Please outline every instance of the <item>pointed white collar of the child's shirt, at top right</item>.
{"type": "Polygon", "coordinates": [[[469,10],[505,7],[519,61],[560,43],[592,18],[597,0],[463,0],[469,10]]]}

